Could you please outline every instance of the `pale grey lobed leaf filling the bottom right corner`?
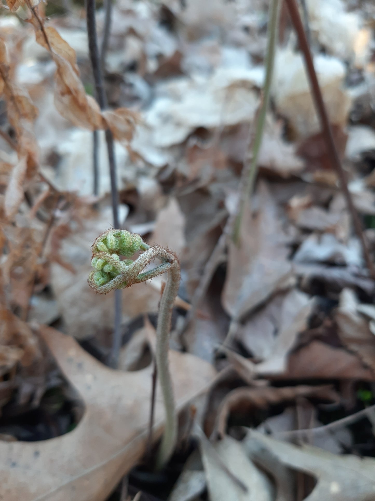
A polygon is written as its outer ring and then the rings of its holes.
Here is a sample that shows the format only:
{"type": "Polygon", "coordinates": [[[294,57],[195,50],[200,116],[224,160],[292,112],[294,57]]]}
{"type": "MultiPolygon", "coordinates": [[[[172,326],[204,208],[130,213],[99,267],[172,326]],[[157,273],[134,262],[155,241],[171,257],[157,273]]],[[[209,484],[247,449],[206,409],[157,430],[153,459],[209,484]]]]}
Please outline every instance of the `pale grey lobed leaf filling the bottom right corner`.
{"type": "Polygon", "coordinates": [[[313,475],[317,483],[305,501],[369,501],[375,492],[375,459],[338,456],[317,447],[279,442],[256,431],[248,440],[266,447],[286,466],[313,475]]]}

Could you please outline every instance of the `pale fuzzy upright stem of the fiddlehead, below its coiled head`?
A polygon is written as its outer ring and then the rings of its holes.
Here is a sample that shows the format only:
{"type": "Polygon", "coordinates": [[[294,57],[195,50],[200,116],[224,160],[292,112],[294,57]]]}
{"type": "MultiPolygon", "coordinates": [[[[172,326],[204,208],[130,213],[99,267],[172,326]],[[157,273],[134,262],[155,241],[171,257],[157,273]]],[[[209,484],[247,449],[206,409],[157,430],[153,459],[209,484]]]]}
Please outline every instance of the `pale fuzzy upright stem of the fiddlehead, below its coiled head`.
{"type": "Polygon", "coordinates": [[[156,328],[156,366],[165,406],[165,428],[156,458],[156,467],[162,468],[170,459],[177,440],[177,414],[169,372],[169,332],[174,301],[180,285],[180,266],[175,260],[168,272],[167,283],[160,300],[158,325],[156,328]]]}

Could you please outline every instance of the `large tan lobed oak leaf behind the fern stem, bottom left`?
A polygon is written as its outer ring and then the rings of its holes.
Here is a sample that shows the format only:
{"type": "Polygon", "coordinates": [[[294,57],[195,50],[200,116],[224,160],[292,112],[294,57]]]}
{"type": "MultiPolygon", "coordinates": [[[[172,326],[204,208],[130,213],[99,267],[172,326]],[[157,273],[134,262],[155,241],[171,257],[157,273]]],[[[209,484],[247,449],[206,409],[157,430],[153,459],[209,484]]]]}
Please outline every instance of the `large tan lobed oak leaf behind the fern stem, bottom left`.
{"type": "MultiPolygon", "coordinates": [[[[83,398],[85,413],[65,435],[43,442],[0,442],[0,497],[7,501],[104,501],[145,452],[153,369],[114,371],[71,337],[49,327],[41,327],[40,332],[83,398]]],[[[178,410],[215,376],[207,362],[177,352],[170,352],[170,368],[178,410]]],[[[163,421],[163,405],[157,399],[155,439],[163,421]]]]}

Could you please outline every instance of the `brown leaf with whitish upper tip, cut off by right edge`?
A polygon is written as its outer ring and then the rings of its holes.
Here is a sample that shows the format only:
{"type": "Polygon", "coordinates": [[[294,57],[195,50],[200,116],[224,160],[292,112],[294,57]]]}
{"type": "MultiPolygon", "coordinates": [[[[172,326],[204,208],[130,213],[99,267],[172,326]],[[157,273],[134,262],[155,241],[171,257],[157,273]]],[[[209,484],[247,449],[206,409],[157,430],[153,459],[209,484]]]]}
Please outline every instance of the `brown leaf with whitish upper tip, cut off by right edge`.
{"type": "Polygon", "coordinates": [[[351,289],[341,292],[339,308],[335,314],[338,335],[341,342],[356,353],[375,375],[375,337],[368,321],[357,312],[358,305],[359,301],[351,289]]]}

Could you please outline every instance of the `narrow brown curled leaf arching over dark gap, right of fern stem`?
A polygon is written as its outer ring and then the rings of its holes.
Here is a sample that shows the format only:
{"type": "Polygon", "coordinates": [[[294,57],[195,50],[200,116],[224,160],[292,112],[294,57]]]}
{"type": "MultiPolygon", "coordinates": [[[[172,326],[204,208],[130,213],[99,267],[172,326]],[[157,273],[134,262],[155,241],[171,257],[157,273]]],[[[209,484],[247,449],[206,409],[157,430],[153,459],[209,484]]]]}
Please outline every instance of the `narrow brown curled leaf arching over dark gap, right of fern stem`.
{"type": "Polygon", "coordinates": [[[331,386],[286,386],[274,388],[236,388],[221,402],[217,413],[215,430],[219,436],[224,436],[227,421],[231,412],[247,412],[251,408],[264,409],[270,405],[295,400],[298,397],[316,397],[324,400],[337,401],[338,395],[331,386]]]}

